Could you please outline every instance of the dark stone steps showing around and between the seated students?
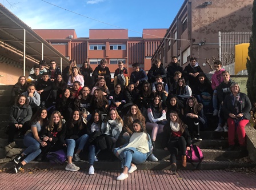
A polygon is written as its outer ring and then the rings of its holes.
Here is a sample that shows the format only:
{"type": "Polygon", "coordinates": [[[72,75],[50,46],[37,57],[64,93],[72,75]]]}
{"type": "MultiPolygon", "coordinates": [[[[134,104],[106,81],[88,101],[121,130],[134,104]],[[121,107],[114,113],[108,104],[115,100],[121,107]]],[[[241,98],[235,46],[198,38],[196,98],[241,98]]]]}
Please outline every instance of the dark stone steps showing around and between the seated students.
{"type": "MultiPolygon", "coordinates": [[[[10,112],[10,91],[13,86],[0,86],[0,158],[5,157],[5,152],[3,148],[7,145],[7,135],[4,133],[3,129],[6,124],[9,123],[9,112],[10,112]]],[[[227,151],[227,132],[214,132],[217,126],[217,118],[212,115],[207,115],[207,120],[210,121],[206,131],[201,132],[201,142],[194,142],[202,149],[203,156],[205,159],[199,165],[198,169],[226,169],[226,168],[241,168],[241,167],[255,167],[255,164],[250,163],[239,163],[235,161],[236,159],[241,159],[246,156],[246,153],[234,149],[234,151],[227,151]]],[[[150,133],[150,132],[149,132],[150,133]]],[[[158,135],[157,141],[155,142],[156,148],[154,150],[154,155],[159,161],[146,161],[143,164],[137,165],[138,169],[170,169],[170,153],[169,151],[164,151],[159,143],[161,139],[161,134],[158,135]]],[[[17,144],[22,144],[22,139],[15,139],[17,144]]],[[[87,160],[87,153],[82,153],[82,160],[87,160]]],[[[95,169],[121,169],[120,161],[115,158],[111,153],[106,153],[104,151],[100,152],[99,162],[94,164],[95,169]]],[[[181,160],[178,160],[178,169],[193,169],[193,165],[187,163],[186,168],[181,168],[181,160]]],[[[87,161],[81,161],[75,163],[81,168],[89,167],[87,161]]],[[[6,168],[13,165],[13,162],[0,164],[0,168],[6,168]]],[[[31,161],[31,163],[26,165],[26,168],[55,168],[63,169],[63,165],[54,165],[49,162],[37,162],[31,161]]]]}

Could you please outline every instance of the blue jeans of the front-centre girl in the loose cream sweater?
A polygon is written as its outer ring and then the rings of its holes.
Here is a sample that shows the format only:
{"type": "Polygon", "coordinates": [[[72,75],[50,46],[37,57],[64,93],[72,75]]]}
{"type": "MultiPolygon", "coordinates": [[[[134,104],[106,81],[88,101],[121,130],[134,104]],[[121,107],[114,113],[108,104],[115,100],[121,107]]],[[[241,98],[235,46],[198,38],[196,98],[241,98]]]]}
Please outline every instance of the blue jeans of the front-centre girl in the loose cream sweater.
{"type": "MultiPolygon", "coordinates": [[[[114,149],[114,154],[117,155],[119,148],[114,149]]],[[[131,162],[135,164],[141,164],[147,159],[147,153],[139,152],[136,148],[125,148],[122,153],[118,156],[122,161],[122,168],[127,167],[130,169],[131,162]]]]}

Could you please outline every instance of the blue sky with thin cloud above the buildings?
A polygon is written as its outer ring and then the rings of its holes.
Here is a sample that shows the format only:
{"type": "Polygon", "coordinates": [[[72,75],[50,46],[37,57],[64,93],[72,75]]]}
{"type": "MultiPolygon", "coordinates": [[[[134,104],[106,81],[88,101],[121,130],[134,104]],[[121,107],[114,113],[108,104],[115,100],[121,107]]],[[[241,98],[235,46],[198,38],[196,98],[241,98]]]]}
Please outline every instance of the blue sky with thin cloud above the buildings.
{"type": "Polygon", "coordinates": [[[168,29],[183,0],[0,0],[0,3],[31,29],[75,29],[78,37],[89,37],[89,29],[120,27],[129,30],[129,37],[142,37],[143,29],[168,29]]]}

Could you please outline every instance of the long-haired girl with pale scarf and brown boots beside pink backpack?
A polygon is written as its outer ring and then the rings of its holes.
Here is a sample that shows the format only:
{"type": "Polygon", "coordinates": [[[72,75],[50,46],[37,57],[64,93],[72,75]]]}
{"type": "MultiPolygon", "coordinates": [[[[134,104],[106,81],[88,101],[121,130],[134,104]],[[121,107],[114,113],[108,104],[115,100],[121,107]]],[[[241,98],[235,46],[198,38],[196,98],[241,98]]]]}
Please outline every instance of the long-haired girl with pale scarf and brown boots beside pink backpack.
{"type": "Polygon", "coordinates": [[[171,174],[176,174],[178,151],[181,151],[182,167],[187,166],[186,151],[190,150],[191,136],[185,123],[179,118],[177,112],[171,111],[168,123],[163,127],[162,146],[170,151],[171,174]]]}

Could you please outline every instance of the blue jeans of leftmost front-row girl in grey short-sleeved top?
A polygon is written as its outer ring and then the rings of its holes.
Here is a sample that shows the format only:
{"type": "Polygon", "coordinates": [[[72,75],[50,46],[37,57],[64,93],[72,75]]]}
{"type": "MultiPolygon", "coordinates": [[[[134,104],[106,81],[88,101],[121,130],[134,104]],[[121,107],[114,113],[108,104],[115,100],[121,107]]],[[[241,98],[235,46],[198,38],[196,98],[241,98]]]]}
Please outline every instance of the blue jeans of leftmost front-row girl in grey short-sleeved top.
{"type": "Polygon", "coordinates": [[[35,140],[34,135],[31,132],[24,137],[23,144],[27,147],[23,152],[23,154],[27,156],[23,160],[26,163],[34,160],[41,153],[40,143],[35,140]]]}

